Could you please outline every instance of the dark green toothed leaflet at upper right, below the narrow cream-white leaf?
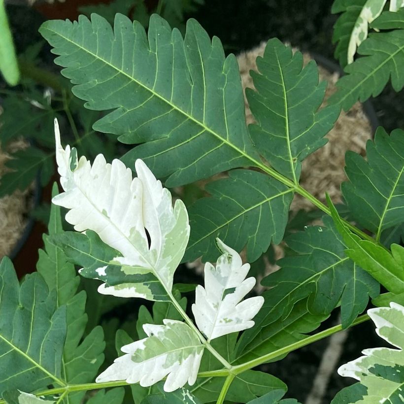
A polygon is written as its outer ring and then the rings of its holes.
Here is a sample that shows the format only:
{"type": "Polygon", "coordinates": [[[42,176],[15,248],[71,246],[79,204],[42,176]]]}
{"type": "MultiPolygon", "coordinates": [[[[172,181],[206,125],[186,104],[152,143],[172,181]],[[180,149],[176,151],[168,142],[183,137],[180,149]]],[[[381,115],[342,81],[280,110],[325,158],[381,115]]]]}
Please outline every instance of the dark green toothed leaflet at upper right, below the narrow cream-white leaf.
{"type": "Polygon", "coordinates": [[[345,67],[348,73],[337,81],[338,91],[328,103],[348,110],[356,101],[378,96],[389,79],[395,91],[404,86],[404,74],[397,66],[404,63],[404,30],[370,34],[358,49],[365,57],[345,67]]]}

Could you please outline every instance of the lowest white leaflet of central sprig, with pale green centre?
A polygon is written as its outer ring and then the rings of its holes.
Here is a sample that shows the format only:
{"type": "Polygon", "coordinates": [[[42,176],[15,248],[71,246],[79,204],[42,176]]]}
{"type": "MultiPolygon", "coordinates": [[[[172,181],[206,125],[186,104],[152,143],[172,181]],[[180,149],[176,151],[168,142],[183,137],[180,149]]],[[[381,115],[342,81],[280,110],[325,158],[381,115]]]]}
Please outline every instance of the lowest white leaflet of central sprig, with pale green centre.
{"type": "Polygon", "coordinates": [[[168,319],[163,323],[144,324],[147,337],[124,345],[121,350],[126,355],[115,359],[96,381],[126,380],[147,387],[167,376],[164,384],[167,392],[186,383],[193,385],[201,364],[203,345],[187,324],[168,319]]]}

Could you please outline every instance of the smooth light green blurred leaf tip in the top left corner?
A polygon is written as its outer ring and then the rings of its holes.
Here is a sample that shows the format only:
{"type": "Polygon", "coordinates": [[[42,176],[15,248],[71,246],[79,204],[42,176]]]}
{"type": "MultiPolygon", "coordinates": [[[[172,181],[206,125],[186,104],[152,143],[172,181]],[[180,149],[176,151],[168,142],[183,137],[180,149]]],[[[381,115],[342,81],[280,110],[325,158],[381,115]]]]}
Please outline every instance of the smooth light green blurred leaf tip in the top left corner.
{"type": "Polygon", "coordinates": [[[10,86],[18,84],[20,70],[5,12],[4,0],[0,0],[0,72],[10,86]]]}

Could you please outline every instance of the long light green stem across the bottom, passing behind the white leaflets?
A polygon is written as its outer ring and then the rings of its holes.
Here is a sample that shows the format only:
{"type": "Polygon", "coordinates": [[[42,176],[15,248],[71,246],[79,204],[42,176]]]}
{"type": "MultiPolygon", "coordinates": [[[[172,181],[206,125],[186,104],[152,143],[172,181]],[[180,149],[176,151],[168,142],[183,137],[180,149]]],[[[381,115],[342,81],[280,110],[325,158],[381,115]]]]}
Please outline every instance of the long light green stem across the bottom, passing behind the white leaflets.
{"type": "MultiPolygon", "coordinates": [[[[182,308],[181,308],[181,310],[182,310],[182,308]]],[[[188,317],[186,314],[185,314],[185,316],[188,317]]],[[[350,327],[361,324],[369,319],[370,319],[370,317],[367,314],[364,314],[364,315],[358,317],[350,325],[350,327]]],[[[339,324],[339,325],[331,327],[327,330],[321,331],[320,333],[314,334],[312,336],[308,336],[308,337],[302,339],[301,341],[297,341],[293,344],[290,344],[283,348],[277,349],[276,351],[273,351],[267,355],[253,359],[252,361],[248,361],[248,362],[242,363],[240,365],[236,365],[236,366],[231,366],[231,369],[204,371],[204,372],[198,373],[198,377],[207,378],[207,377],[224,377],[224,376],[226,376],[225,384],[223,385],[222,391],[220,392],[221,396],[223,396],[223,395],[226,396],[226,393],[230,387],[230,384],[237,374],[242,373],[243,371],[255,368],[258,365],[262,365],[263,363],[266,363],[272,359],[276,359],[281,355],[288,354],[289,352],[295,351],[296,349],[302,348],[303,346],[309,345],[313,342],[319,341],[320,339],[330,337],[332,334],[335,334],[341,330],[342,330],[342,325],[339,324]],[[226,388],[226,391],[224,392],[225,385],[227,385],[227,388],[226,388]]],[[[126,381],[107,381],[104,383],[73,384],[73,385],[67,385],[65,387],[57,387],[55,389],[37,391],[34,394],[36,396],[50,396],[50,395],[55,395],[55,394],[63,394],[66,391],[69,393],[69,392],[73,392],[73,391],[97,390],[97,389],[104,389],[104,388],[108,388],[108,387],[118,387],[118,386],[127,386],[127,385],[129,385],[129,383],[127,383],[126,381]]],[[[225,398],[224,396],[223,396],[223,400],[225,398]]],[[[220,399],[220,397],[219,397],[219,399],[220,399]]],[[[220,402],[218,401],[217,403],[220,403],[220,402]]],[[[222,403],[223,403],[223,401],[222,401],[222,403]]],[[[4,400],[0,400],[0,404],[6,404],[6,403],[4,400]]]]}

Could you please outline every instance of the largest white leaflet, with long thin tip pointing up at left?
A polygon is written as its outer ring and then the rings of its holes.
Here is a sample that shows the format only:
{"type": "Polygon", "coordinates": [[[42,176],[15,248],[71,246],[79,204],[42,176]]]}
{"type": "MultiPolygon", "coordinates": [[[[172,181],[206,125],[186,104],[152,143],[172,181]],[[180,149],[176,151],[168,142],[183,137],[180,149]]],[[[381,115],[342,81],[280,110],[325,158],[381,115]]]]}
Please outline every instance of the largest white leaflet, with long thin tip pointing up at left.
{"type": "MultiPolygon", "coordinates": [[[[170,292],[174,271],[189,238],[184,203],[177,200],[173,208],[169,191],[141,160],[135,162],[137,177],[132,179],[132,171],[120,160],[109,164],[98,155],[91,165],[85,157],[78,160],[70,146],[63,149],[57,121],[55,136],[56,160],[65,192],[52,202],[69,209],[66,220],[76,231],[93,230],[121,253],[110,264],[121,268],[125,275],[150,272],[170,292]]],[[[103,281],[107,280],[105,268],[93,269],[104,275],[103,281]]],[[[150,295],[145,293],[144,285],[136,283],[102,284],[99,292],[122,297],[150,295]]]]}

